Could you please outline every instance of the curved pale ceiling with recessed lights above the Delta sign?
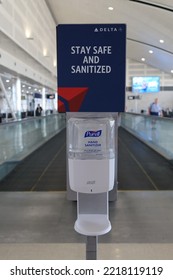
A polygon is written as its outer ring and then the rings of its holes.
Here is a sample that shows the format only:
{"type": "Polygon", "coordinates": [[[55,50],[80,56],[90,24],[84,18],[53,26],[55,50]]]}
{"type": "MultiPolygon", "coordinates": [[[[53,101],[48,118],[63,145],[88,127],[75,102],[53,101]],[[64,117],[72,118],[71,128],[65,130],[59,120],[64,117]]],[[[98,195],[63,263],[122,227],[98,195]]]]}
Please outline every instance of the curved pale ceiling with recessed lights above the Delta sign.
{"type": "Polygon", "coordinates": [[[140,62],[143,58],[164,72],[173,71],[172,0],[45,1],[56,25],[126,23],[127,58],[140,62]]]}

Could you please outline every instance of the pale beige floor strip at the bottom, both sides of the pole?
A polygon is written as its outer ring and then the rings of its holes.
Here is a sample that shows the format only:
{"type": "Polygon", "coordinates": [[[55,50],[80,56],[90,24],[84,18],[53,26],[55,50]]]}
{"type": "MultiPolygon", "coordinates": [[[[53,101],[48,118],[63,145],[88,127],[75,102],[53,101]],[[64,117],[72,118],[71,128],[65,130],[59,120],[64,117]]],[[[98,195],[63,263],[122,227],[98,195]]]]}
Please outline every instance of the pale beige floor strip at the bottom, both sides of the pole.
{"type": "MultiPolygon", "coordinates": [[[[0,244],[0,260],[85,260],[84,243],[0,244]]],[[[173,244],[99,243],[98,260],[172,260],[173,244]]]]}

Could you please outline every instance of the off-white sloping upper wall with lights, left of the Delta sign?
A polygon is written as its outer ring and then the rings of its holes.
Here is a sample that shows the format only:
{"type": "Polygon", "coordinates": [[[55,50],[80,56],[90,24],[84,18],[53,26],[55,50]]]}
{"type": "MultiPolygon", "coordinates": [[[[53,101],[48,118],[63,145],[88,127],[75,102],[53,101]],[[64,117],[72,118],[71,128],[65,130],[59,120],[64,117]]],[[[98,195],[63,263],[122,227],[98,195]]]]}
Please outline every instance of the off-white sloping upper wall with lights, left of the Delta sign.
{"type": "Polygon", "coordinates": [[[0,54],[0,65],[56,89],[56,25],[44,0],[2,1],[0,54]]]}

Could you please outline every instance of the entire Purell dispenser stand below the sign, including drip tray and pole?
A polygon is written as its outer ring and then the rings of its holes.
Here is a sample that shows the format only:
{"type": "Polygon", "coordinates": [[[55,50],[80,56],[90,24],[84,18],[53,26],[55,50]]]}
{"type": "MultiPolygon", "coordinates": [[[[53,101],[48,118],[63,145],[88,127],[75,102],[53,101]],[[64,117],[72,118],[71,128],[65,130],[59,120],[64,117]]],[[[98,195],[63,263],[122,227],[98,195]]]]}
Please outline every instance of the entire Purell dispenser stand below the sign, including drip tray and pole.
{"type": "Polygon", "coordinates": [[[74,228],[87,236],[87,259],[96,259],[98,236],[111,230],[108,192],[115,182],[116,125],[111,113],[70,113],[67,118],[68,179],[77,193],[74,228]]]}

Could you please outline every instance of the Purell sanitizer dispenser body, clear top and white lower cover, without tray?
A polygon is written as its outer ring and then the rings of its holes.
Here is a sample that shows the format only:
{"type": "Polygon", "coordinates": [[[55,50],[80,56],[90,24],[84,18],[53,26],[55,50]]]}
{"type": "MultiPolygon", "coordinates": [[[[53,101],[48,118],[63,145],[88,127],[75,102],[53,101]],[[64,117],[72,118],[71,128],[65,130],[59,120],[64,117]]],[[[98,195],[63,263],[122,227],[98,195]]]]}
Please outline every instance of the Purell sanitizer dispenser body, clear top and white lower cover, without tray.
{"type": "Polygon", "coordinates": [[[115,120],[70,118],[67,126],[70,188],[84,193],[111,190],[115,177],[115,120]]]}

